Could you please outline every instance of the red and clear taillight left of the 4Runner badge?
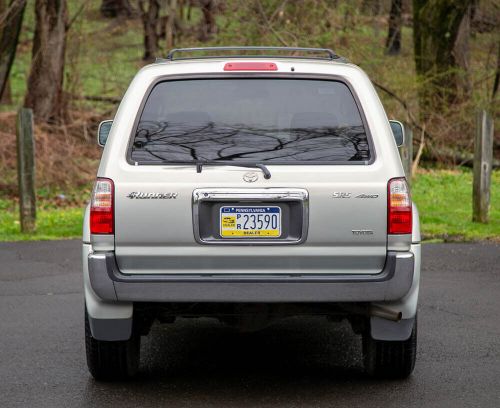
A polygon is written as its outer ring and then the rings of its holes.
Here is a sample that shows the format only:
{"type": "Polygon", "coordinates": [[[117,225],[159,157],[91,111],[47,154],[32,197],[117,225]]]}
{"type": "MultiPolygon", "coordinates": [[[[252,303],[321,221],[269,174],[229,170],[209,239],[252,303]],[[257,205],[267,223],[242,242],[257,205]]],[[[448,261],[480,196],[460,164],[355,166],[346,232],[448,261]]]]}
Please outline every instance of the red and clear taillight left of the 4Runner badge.
{"type": "Polygon", "coordinates": [[[90,233],[114,233],[114,186],[113,181],[98,178],[92,191],[90,201],[90,233]]]}

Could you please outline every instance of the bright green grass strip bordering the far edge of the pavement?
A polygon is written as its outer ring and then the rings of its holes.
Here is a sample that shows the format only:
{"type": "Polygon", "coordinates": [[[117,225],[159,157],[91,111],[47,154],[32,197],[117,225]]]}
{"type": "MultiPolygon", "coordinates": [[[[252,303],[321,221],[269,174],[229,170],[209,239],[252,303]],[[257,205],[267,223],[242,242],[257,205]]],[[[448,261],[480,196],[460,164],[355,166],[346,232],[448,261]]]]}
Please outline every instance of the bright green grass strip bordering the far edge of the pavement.
{"type": "MultiPolygon", "coordinates": [[[[79,191],[77,196],[88,196],[79,191]]],[[[413,180],[413,199],[418,205],[422,234],[430,241],[500,241],[500,171],[492,176],[490,222],[471,221],[472,172],[432,170],[413,180]]],[[[71,200],[71,194],[69,194],[71,200]]],[[[71,202],[71,201],[70,201],[71,202]]],[[[19,232],[19,207],[11,199],[0,199],[0,241],[81,238],[83,205],[58,208],[57,200],[40,192],[37,230],[19,232]]]]}

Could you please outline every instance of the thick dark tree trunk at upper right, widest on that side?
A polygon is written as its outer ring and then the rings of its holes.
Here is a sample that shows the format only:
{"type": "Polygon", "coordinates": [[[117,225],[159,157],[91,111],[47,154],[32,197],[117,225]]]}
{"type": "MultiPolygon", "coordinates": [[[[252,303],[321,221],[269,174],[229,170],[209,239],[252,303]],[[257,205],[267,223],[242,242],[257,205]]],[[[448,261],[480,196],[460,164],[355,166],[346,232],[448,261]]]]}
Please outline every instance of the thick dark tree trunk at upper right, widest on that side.
{"type": "Polygon", "coordinates": [[[455,45],[474,0],[413,0],[415,66],[422,79],[422,119],[443,113],[461,93],[460,56],[455,45]]]}

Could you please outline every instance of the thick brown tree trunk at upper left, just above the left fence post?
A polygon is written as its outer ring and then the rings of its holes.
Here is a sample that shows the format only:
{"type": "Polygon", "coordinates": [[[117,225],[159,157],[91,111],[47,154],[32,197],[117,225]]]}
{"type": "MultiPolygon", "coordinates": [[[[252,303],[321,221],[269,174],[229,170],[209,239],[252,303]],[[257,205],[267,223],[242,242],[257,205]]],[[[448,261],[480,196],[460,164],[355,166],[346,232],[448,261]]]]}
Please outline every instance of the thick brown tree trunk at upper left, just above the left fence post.
{"type": "Polygon", "coordinates": [[[36,0],[35,37],[24,104],[37,121],[57,121],[65,110],[62,100],[66,28],[66,0],[36,0]]]}

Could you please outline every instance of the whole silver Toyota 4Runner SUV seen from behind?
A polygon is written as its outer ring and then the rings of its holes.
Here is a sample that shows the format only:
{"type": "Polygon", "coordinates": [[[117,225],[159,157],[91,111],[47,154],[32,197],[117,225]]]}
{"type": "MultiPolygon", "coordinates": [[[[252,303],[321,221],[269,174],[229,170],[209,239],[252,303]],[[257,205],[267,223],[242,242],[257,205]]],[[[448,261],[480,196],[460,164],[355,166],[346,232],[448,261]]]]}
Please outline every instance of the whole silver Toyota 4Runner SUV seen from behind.
{"type": "Polygon", "coordinates": [[[368,373],[407,377],[420,232],[402,132],[331,50],[178,49],[141,69],[99,128],[84,220],[92,375],[136,373],[155,321],[305,314],[347,319],[368,373]]]}

